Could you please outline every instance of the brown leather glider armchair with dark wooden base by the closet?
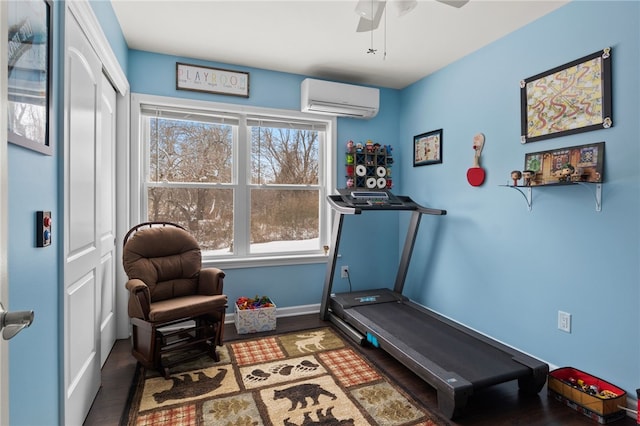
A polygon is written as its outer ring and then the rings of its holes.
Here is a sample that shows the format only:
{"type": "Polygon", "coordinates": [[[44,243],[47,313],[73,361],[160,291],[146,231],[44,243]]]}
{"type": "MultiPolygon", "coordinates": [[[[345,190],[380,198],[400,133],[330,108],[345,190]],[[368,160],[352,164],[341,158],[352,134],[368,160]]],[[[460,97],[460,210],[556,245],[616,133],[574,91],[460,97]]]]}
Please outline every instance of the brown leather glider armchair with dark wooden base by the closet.
{"type": "Polygon", "coordinates": [[[201,269],[196,239],[170,222],[141,223],[124,237],[122,262],[129,277],[133,356],[165,377],[170,367],[203,351],[218,361],[227,306],[225,274],[201,269]],[[173,356],[176,352],[180,356],[173,356]]]}

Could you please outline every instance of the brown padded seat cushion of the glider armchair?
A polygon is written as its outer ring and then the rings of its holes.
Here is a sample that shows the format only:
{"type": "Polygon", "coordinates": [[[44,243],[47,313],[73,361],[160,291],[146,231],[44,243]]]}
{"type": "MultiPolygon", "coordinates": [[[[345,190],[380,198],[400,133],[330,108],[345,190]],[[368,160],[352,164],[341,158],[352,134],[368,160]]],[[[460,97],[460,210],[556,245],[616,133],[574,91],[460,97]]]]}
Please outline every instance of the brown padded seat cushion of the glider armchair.
{"type": "Polygon", "coordinates": [[[183,296],[151,304],[149,321],[153,323],[211,314],[227,305],[227,296],[183,296]]]}

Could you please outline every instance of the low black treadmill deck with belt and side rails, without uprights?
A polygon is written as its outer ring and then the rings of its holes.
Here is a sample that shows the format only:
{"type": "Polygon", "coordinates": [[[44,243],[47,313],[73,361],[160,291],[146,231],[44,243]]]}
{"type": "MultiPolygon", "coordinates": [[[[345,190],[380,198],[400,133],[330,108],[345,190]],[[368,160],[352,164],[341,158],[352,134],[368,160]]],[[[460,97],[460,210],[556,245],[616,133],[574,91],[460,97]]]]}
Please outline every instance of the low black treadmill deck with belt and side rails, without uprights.
{"type": "Polygon", "coordinates": [[[478,389],[511,380],[518,380],[527,393],[538,393],[544,386],[546,363],[391,290],[372,290],[372,297],[366,294],[333,295],[330,319],[343,330],[371,335],[381,349],[436,388],[438,408],[449,418],[461,414],[478,389]]]}

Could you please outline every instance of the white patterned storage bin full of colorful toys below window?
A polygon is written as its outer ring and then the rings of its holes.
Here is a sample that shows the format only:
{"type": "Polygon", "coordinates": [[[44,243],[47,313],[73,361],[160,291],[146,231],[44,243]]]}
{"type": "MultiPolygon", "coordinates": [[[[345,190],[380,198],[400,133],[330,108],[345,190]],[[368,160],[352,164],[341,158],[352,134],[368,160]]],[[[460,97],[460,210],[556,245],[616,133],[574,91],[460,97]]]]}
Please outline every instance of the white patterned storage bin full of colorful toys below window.
{"type": "Polygon", "coordinates": [[[238,334],[276,329],[276,305],[267,296],[239,297],[236,300],[235,309],[238,334]]]}

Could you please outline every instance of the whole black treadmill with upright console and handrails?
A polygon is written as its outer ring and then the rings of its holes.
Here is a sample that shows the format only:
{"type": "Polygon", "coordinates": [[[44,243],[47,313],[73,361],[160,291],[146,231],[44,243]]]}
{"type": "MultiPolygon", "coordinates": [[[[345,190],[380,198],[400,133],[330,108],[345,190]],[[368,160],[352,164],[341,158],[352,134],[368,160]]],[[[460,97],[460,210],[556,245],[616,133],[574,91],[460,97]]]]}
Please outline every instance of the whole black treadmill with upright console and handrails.
{"type": "Polygon", "coordinates": [[[542,390],[549,373],[546,363],[402,295],[422,215],[445,215],[445,210],[423,207],[388,190],[338,192],[327,197],[335,221],[320,306],[322,320],[331,321],[359,344],[368,342],[383,349],[429,383],[437,391],[438,409],[450,419],[460,416],[468,398],[485,387],[517,379],[525,393],[542,390]],[[387,210],[411,212],[393,290],[332,293],[344,215],[387,210]]]}

